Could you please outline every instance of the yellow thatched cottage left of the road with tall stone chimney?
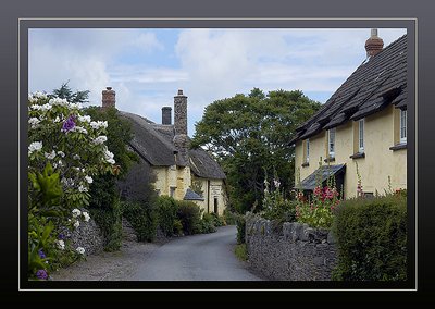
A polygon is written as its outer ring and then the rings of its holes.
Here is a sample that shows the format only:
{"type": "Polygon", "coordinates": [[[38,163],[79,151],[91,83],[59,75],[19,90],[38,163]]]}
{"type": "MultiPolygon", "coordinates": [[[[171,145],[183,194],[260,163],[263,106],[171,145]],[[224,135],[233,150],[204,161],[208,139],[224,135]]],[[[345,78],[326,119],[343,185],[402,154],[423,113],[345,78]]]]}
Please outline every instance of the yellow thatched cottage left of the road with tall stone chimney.
{"type": "MultiPolygon", "coordinates": [[[[102,106],[115,106],[115,91],[110,87],[102,91],[102,106]]],[[[223,213],[227,205],[225,173],[207,151],[189,148],[183,90],[174,97],[174,124],[171,107],[162,108],[161,124],[128,112],[119,114],[132,124],[129,147],[140,158],[123,184],[123,195],[144,194],[137,186],[147,180],[160,196],[194,201],[204,213],[223,213]]]]}

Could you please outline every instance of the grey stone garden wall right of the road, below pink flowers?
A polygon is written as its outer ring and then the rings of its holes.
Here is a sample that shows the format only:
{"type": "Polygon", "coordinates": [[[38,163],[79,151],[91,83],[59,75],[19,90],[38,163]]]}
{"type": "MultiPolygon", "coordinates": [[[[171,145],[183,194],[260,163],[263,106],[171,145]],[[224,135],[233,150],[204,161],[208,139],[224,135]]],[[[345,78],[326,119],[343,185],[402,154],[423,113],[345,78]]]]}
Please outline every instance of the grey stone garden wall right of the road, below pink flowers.
{"type": "Polygon", "coordinates": [[[251,268],[270,280],[328,281],[337,262],[327,230],[246,217],[246,244],[251,268]]]}

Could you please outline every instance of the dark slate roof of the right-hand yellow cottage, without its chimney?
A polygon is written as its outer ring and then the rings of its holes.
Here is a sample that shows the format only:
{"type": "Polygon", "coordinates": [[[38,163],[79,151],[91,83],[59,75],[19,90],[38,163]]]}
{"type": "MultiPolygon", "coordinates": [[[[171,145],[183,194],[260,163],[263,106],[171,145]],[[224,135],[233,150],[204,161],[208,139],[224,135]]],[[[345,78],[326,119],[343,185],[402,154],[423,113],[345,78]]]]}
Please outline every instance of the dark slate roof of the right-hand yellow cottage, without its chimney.
{"type": "Polygon", "coordinates": [[[321,110],[296,129],[289,145],[380,112],[389,104],[407,109],[407,35],[365,60],[321,110]]]}

